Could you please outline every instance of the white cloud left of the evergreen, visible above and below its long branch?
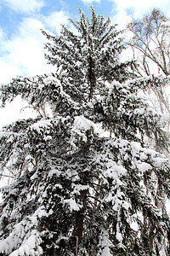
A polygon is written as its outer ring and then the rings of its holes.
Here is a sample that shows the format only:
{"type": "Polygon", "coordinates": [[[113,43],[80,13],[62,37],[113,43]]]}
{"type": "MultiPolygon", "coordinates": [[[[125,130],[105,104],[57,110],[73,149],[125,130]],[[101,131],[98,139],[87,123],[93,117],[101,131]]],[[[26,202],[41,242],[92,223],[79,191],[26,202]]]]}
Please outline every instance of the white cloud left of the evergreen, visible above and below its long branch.
{"type": "MultiPolygon", "coordinates": [[[[7,84],[17,75],[34,76],[54,71],[54,67],[48,65],[44,58],[43,43],[46,38],[41,28],[44,26],[40,20],[25,18],[10,40],[0,28],[0,84],[7,84]]],[[[36,113],[26,106],[27,103],[17,97],[5,108],[0,108],[0,128],[16,119],[35,116],[36,113]],[[21,108],[25,110],[20,112],[21,108]]]]}

